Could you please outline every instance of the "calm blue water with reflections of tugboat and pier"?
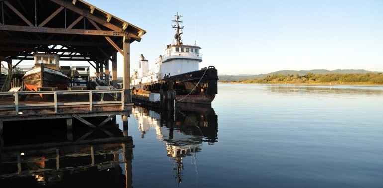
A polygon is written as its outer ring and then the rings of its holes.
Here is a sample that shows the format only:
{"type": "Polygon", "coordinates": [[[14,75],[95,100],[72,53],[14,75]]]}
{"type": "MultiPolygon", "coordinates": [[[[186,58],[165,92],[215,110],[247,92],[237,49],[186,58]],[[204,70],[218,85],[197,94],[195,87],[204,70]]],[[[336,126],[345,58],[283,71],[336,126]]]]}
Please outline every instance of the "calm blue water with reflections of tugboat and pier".
{"type": "MultiPolygon", "coordinates": [[[[74,128],[79,145],[43,144],[18,157],[4,125],[0,187],[383,187],[383,86],[218,84],[212,108],[135,107],[125,135],[121,117],[116,123],[74,128]],[[119,139],[91,142],[107,132],[119,139]]],[[[57,127],[38,140],[65,143],[57,127]]],[[[25,129],[15,132],[28,138],[25,129]]]]}

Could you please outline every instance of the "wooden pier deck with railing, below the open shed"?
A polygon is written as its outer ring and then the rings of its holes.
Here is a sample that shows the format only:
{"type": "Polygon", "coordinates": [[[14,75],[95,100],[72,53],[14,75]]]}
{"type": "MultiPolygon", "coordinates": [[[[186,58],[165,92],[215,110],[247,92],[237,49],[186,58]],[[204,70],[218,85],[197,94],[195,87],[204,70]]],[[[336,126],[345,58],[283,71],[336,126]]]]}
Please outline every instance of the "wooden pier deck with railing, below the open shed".
{"type": "Polygon", "coordinates": [[[72,118],[96,128],[84,117],[124,118],[133,106],[124,100],[123,89],[0,92],[0,129],[5,121],[63,118],[67,119],[68,129],[72,127],[72,118]]]}

